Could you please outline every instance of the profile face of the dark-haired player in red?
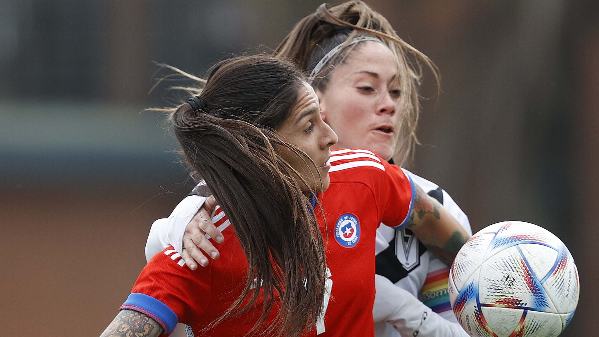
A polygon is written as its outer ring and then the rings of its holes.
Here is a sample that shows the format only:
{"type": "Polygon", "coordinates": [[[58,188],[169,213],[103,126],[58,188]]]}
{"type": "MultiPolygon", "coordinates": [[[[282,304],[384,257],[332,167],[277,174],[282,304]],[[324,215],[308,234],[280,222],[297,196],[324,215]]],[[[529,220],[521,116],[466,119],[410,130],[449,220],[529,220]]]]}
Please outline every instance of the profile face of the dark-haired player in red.
{"type": "Polygon", "coordinates": [[[331,146],[337,143],[337,135],[322,121],[318,98],[308,83],[304,82],[299,88],[298,100],[291,115],[277,131],[316,163],[317,167],[314,167],[288,151],[282,154],[308,182],[310,188],[317,192],[328,188],[331,146]]]}

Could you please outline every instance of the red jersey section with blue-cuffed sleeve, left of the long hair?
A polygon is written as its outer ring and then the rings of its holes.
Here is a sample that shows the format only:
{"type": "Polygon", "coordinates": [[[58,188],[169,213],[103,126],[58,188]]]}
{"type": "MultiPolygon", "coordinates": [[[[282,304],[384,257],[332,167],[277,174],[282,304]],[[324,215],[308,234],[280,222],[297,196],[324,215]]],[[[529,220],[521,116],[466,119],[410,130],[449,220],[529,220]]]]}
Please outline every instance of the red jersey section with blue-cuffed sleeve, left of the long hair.
{"type": "MultiPolygon", "coordinates": [[[[176,324],[189,324],[196,336],[216,320],[240,296],[246,283],[248,264],[233,226],[223,209],[216,206],[212,218],[225,242],[214,243],[221,257],[208,267],[190,270],[172,247],[154,255],[141,271],[121,309],[143,312],[165,331],[176,324]]],[[[226,320],[204,336],[243,336],[252,329],[262,312],[262,301],[239,317],[226,320]]],[[[276,312],[270,316],[274,318],[276,312]]],[[[270,320],[267,320],[267,324],[270,320]]]]}

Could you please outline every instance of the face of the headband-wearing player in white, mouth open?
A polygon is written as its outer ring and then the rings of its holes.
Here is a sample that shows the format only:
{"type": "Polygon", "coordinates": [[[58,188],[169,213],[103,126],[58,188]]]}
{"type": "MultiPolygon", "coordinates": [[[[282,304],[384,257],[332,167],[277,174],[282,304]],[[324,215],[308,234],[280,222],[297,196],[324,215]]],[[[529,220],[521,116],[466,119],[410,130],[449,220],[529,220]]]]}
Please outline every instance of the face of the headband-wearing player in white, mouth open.
{"type": "Polygon", "coordinates": [[[359,44],[317,91],[322,119],[339,141],[335,148],[360,148],[389,160],[403,115],[397,61],[385,44],[359,44]]]}

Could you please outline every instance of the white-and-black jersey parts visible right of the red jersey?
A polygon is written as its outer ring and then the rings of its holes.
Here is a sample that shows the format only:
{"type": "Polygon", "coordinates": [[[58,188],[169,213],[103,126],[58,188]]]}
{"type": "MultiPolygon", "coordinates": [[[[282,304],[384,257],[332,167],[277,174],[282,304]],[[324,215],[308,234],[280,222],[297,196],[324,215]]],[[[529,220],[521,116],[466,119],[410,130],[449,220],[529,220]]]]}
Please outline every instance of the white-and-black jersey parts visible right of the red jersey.
{"type": "MultiPolygon", "coordinates": [[[[408,174],[472,234],[468,217],[446,191],[416,174],[408,174]]],[[[373,309],[376,336],[468,336],[449,303],[449,267],[409,229],[389,229],[381,226],[377,231],[378,275],[373,309]]]]}

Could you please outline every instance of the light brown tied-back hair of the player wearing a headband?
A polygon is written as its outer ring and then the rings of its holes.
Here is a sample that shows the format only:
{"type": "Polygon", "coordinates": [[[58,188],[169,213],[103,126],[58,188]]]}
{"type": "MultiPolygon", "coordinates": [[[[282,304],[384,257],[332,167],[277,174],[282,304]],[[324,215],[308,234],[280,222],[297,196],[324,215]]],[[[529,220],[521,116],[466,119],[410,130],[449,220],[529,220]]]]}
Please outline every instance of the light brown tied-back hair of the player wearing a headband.
{"type": "MultiPolygon", "coordinates": [[[[432,61],[418,49],[401,40],[384,16],[362,1],[347,1],[331,8],[322,4],[314,13],[299,20],[279,44],[276,53],[292,59],[302,70],[309,72],[334,47],[364,35],[379,38],[397,58],[402,100],[406,103],[406,109],[403,112],[404,118],[401,120],[394,157],[398,158],[397,164],[403,165],[413,158],[415,146],[419,144],[416,128],[420,115],[418,89],[422,78],[422,64],[432,70],[437,80],[437,88],[440,85],[440,77],[432,61]]],[[[316,74],[312,85],[320,91],[325,91],[334,66],[341,64],[344,56],[357,47],[358,44],[341,49],[328,63],[328,67],[316,74]]]]}

